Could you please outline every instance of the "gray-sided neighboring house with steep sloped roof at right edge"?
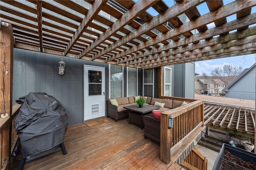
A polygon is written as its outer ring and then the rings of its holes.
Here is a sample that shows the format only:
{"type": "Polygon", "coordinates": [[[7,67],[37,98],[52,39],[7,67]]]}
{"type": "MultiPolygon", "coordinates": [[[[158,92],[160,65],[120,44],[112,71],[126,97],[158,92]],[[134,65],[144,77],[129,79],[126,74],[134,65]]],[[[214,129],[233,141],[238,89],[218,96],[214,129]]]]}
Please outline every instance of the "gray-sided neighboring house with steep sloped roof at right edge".
{"type": "Polygon", "coordinates": [[[223,91],[228,98],[255,100],[255,64],[246,68],[223,91]]]}

